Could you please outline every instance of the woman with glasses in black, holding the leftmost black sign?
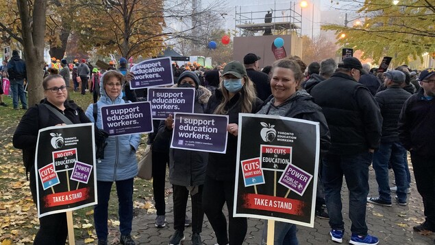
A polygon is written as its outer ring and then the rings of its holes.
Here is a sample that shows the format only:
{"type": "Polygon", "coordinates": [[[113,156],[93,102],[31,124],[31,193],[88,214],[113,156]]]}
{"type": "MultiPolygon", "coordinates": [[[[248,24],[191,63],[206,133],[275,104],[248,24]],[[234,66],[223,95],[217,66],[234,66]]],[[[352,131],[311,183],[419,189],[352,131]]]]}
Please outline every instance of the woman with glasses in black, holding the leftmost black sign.
{"type": "MultiPolygon", "coordinates": [[[[65,115],[73,124],[89,122],[82,108],[77,106],[73,101],[66,100],[68,91],[66,90],[65,81],[61,75],[48,75],[42,82],[42,87],[44,88],[45,99],[42,100],[40,104],[27,110],[16,127],[13,138],[14,147],[23,149],[23,152],[31,156],[32,159],[27,161],[29,163],[34,162],[38,130],[49,126],[65,124],[62,119],[48,110],[48,108],[44,108],[44,106],[55,108],[55,110],[65,115]],[[47,113],[41,113],[44,109],[47,113]],[[47,119],[42,118],[46,115],[48,115],[47,119]]],[[[26,170],[30,172],[30,190],[32,191],[32,198],[36,204],[36,176],[34,174],[34,165],[31,164],[26,170]]],[[[39,218],[39,222],[40,229],[38,233],[36,233],[34,244],[65,244],[66,236],[68,235],[65,213],[55,213],[44,216],[39,218]]]]}

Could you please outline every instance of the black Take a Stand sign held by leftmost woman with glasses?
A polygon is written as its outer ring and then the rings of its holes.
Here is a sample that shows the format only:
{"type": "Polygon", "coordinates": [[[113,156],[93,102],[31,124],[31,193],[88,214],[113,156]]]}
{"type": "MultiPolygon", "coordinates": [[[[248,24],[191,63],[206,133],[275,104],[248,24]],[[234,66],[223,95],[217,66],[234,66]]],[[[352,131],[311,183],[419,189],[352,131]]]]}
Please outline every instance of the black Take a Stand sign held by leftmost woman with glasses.
{"type": "Polygon", "coordinates": [[[94,124],[39,130],[34,165],[38,218],[97,204],[94,124]]]}

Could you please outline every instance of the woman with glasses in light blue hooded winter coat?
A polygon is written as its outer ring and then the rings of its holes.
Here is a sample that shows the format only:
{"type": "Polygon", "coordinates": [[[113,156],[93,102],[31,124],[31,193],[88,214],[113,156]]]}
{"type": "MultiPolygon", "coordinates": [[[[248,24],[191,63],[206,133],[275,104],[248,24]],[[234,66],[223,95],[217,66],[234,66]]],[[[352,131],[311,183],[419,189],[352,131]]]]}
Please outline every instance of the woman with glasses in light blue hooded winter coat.
{"type": "MultiPolygon", "coordinates": [[[[124,75],[119,71],[106,71],[100,80],[101,97],[97,102],[97,127],[102,128],[101,106],[124,104],[122,88],[124,75]]],[[[86,116],[95,122],[93,104],[86,110],[86,116]]],[[[116,183],[118,196],[119,230],[121,231],[121,244],[134,245],[132,236],[133,220],[133,178],[138,174],[136,150],[140,136],[121,135],[110,136],[105,140],[108,143],[104,148],[104,159],[97,163],[97,194],[98,205],[94,207],[95,231],[97,231],[98,244],[108,244],[108,202],[112,184],[116,183]]]]}

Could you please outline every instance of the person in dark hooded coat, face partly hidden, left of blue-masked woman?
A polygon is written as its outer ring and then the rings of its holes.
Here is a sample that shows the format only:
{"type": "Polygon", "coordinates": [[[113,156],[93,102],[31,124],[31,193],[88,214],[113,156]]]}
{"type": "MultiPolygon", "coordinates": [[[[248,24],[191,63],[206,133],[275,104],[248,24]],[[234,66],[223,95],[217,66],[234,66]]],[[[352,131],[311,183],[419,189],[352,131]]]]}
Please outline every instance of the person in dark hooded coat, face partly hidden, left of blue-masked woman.
{"type": "MultiPolygon", "coordinates": [[[[177,85],[180,88],[195,88],[194,113],[204,113],[208,99],[212,95],[204,86],[199,86],[199,78],[192,71],[184,71],[179,75],[177,85]]],[[[171,139],[173,117],[160,124],[158,136],[171,139]]],[[[202,190],[208,161],[207,152],[195,150],[169,150],[169,182],[173,189],[174,229],[175,233],[169,244],[179,244],[184,237],[186,224],[186,206],[190,193],[192,199],[192,244],[202,244],[200,233],[204,211],[202,209],[202,190]]]]}

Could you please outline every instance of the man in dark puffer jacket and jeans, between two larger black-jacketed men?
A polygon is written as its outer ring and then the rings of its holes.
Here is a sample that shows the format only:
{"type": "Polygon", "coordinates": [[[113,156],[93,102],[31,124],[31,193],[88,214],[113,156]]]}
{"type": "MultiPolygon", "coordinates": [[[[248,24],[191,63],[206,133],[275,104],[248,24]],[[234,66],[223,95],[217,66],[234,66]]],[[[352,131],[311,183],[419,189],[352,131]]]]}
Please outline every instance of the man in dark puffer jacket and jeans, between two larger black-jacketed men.
{"type": "Polygon", "coordinates": [[[405,73],[401,71],[388,71],[384,73],[386,90],[375,95],[382,114],[382,137],[380,148],[373,154],[373,169],[379,185],[379,196],[367,198],[367,202],[375,205],[391,207],[390,186],[388,185],[388,162],[391,163],[397,185],[395,199],[401,206],[406,206],[406,189],[408,180],[406,177],[406,149],[399,141],[397,121],[401,108],[410,93],[401,89],[405,82],[405,73]]]}

